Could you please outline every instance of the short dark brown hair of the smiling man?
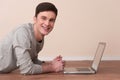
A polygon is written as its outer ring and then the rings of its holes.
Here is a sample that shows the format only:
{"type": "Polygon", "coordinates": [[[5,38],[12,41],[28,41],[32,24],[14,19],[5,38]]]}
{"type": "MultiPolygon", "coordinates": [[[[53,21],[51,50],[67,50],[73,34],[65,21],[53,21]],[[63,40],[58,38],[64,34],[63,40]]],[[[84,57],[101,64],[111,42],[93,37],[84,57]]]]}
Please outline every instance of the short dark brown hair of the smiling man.
{"type": "Polygon", "coordinates": [[[57,12],[58,12],[58,10],[54,4],[52,4],[50,2],[42,2],[42,3],[38,4],[38,6],[36,7],[35,17],[37,17],[37,15],[43,11],[53,11],[56,14],[56,16],[57,16],[57,12]]]}

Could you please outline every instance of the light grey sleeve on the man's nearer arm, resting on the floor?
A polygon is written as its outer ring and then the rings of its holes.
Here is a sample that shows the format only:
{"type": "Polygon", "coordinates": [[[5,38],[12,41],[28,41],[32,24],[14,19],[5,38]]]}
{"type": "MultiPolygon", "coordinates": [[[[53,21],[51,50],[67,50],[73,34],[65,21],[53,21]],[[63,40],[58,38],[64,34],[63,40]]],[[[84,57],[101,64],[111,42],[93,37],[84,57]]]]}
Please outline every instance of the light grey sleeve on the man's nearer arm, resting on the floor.
{"type": "Polygon", "coordinates": [[[17,58],[17,66],[21,74],[39,74],[42,72],[40,64],[33,63],[29,54],[30,48],[29,33],[26,29],[19,29],[15,32],[13,47],[17,58]]]}

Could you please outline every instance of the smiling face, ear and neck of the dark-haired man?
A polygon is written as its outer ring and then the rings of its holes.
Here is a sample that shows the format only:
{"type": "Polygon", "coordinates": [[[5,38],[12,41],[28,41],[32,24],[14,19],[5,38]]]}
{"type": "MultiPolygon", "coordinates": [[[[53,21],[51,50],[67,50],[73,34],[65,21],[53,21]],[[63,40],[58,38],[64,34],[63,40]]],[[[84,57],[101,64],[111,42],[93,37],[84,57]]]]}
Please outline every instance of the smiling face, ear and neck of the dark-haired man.
{"type": "Polygon", "coordinates": [[[38,41],[52,31],[55,19],[56,14],[53,11],[43,11],[34,17],[34,33],[38,41]]]}

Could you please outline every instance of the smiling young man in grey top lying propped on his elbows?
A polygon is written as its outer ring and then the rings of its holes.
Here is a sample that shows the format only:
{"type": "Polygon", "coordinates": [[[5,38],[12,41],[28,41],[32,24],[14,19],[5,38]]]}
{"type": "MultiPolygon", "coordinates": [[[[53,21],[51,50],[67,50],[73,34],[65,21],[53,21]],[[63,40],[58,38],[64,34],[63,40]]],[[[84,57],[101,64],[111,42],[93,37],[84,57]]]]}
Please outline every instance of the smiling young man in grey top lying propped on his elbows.
{"type": "Polygon", "coordinates": [[[38,60],[38,52],[44,44],[57,17],[57,8],[49,2],[36,7],[34,23],[20,25],[0,42],[0,73],[9,73],[19,68],[21,74],[59,72],[64,68],[61,56],[49,63],[38,60]]]}

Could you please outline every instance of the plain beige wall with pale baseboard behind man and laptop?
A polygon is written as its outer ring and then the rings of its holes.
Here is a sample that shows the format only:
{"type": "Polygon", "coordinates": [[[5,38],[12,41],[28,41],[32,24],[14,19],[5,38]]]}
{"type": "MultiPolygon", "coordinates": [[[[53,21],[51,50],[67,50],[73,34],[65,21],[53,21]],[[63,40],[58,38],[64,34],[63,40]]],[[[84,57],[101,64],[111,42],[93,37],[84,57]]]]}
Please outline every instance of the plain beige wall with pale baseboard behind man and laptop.
{"type": "Polygon", "coordinates": [[[32,22],[39,2],[59,10],[39,58],[92,59],[99,41],[107,43],[103,59],[120,60],[120,0],[0,0],[0,39],[19,24],[32,22]]]}

